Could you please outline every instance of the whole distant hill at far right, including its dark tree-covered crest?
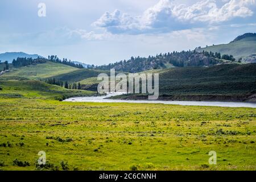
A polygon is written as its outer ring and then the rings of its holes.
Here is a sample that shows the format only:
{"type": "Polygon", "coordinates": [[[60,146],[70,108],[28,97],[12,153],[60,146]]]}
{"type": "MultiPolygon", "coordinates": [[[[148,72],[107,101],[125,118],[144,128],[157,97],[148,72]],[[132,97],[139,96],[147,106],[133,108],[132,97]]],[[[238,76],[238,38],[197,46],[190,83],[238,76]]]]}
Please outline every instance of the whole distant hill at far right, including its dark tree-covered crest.
{"type": "Polygon", "coordinates": [[[205,48],[197,49],[198,52],[202,51],[220,52],[222,55],[233,55],[236,60],[249,63],[256,63],[256,34],[246,33],[238,36],[229,44],[220,44],[215,46],[208,46],[205,48]]]}

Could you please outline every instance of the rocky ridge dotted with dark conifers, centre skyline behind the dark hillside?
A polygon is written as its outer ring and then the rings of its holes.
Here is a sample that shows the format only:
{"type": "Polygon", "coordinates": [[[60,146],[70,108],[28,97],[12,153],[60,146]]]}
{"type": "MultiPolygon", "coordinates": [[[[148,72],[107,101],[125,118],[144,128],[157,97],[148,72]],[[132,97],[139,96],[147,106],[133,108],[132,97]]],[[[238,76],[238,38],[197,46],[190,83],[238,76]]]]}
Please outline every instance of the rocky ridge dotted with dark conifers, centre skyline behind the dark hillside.
{"type": "Polygon", "coordinates": [[[194,51],[181,51],[181,52],[168,52],[165,54],[146,57],[131,57],[129,60],[123,60],[114,64],[102,65],[94,67],[95,69],[110,70],[115,68],[116,71],[123,72],[142,72],[149,69],[162,69],[167,68],[166,64],[174,65],[175,67],[198,67],[205,65],[214,65],[221,63],[220,53],[213,52],[196,52],[194,51]]]}

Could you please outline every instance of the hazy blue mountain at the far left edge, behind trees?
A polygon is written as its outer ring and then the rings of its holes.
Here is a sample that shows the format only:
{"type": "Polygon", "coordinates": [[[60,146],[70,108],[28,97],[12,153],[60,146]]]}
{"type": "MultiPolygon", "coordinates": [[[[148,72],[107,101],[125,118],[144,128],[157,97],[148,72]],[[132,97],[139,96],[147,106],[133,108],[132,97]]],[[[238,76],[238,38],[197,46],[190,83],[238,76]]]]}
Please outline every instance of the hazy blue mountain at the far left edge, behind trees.
{"type": "Polygon", "coordinates": [[[0,53],[0,60],[1,62],[3,61],[8,61],[9,63],[13,62],[13,59],[16,59],[17,57],[28,57],[28,58],[32,58],[32,59],[36,59],[38,57],[43,57],[40,55],[30,55],[24,52],[6,52],[6,53],[0,53]]]}

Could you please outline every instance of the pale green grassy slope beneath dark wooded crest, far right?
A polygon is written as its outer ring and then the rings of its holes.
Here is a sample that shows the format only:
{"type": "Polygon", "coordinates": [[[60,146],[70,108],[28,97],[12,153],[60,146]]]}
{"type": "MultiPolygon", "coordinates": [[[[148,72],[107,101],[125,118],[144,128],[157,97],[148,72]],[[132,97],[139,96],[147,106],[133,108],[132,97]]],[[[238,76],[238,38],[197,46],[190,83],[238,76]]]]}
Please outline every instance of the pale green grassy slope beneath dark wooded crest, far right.
{"type": "Polygon", "coordinates": [[[201,48],[199,51],[203,50],[208,52],[220,52],[222,55],[233,55],[236,59],[239,59],[240,57],[245,58],[256,53],[256,38],[244,38],[229,44],[220,44],[201,48]]]}

